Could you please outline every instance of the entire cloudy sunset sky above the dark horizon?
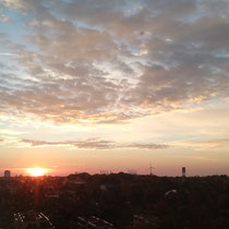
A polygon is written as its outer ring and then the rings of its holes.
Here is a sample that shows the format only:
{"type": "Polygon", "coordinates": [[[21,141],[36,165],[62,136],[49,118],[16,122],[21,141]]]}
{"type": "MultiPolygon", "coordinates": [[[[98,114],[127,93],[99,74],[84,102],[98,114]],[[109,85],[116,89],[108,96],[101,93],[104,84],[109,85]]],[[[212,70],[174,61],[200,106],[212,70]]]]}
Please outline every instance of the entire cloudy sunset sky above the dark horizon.
{"type": "Polygon", "coordinates": [[[229,174],[229,0],[0,0],[5,169],[229,174]]]}

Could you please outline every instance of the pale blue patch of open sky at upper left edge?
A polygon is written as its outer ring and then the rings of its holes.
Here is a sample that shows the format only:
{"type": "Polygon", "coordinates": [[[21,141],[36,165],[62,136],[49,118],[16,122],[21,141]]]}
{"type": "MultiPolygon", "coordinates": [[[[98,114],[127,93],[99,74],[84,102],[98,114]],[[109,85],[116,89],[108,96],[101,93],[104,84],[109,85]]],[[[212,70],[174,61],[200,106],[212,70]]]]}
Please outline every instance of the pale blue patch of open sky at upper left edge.
{"type": "Polygon", "coordinates": [[[29,41],[32,31],[27,27],[27,23],[33,17],[10,9],[4,9],[3,13],[10,21],[0,23],[0,33],[2,34],[0,61],[5,65],[5,74],[16,73],[17,77],[25,79],[27,77],[26,68],[17,63],[17,56],[24,55],[24,51],[28,50],[37,51],[37,47],[29,41]]]}

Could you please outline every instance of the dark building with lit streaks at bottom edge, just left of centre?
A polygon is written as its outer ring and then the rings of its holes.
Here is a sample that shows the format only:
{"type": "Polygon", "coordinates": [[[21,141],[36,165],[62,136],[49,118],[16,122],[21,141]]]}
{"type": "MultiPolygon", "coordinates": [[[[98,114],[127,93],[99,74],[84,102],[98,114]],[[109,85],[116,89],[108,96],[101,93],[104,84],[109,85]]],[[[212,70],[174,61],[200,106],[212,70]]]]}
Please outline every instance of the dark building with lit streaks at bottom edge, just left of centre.
{"type": "Polygon", "coordinates": [[[112,224],[95,216],[77,217],[77,226],[82,229],[114,229],[112,224]]]}

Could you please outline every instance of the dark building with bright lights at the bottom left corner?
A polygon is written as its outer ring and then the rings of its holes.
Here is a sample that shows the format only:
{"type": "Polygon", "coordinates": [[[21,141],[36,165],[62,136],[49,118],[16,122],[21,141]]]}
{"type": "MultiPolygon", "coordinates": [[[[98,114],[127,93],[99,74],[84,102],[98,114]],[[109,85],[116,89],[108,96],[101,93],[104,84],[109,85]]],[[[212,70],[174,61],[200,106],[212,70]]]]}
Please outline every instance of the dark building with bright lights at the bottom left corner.
{"type": "Polygon", "coordinates": [[[14,229],[53,229],[49,218],[33,210],[14,214],[14,229]]]}

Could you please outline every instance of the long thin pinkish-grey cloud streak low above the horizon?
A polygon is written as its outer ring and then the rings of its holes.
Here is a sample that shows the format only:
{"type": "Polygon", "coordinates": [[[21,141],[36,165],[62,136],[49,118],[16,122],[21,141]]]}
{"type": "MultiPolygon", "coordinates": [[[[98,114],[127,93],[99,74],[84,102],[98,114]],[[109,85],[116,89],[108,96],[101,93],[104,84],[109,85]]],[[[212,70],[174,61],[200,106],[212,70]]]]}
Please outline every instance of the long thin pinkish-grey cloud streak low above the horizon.
{"type": "Polygon", "coordinates": [[[164,144],[118,144],[113,141],[101,140],[98,137],[79,140],[79,141],[65,141],[65,142],[47,142],[35,140],[21,140],[20,143],[28,144],[33,147],[37,146],[73,146],[80,149],[114,149],[114,148],[135,148],[135,149],[164,149],[168,145],[164,144]]]}

